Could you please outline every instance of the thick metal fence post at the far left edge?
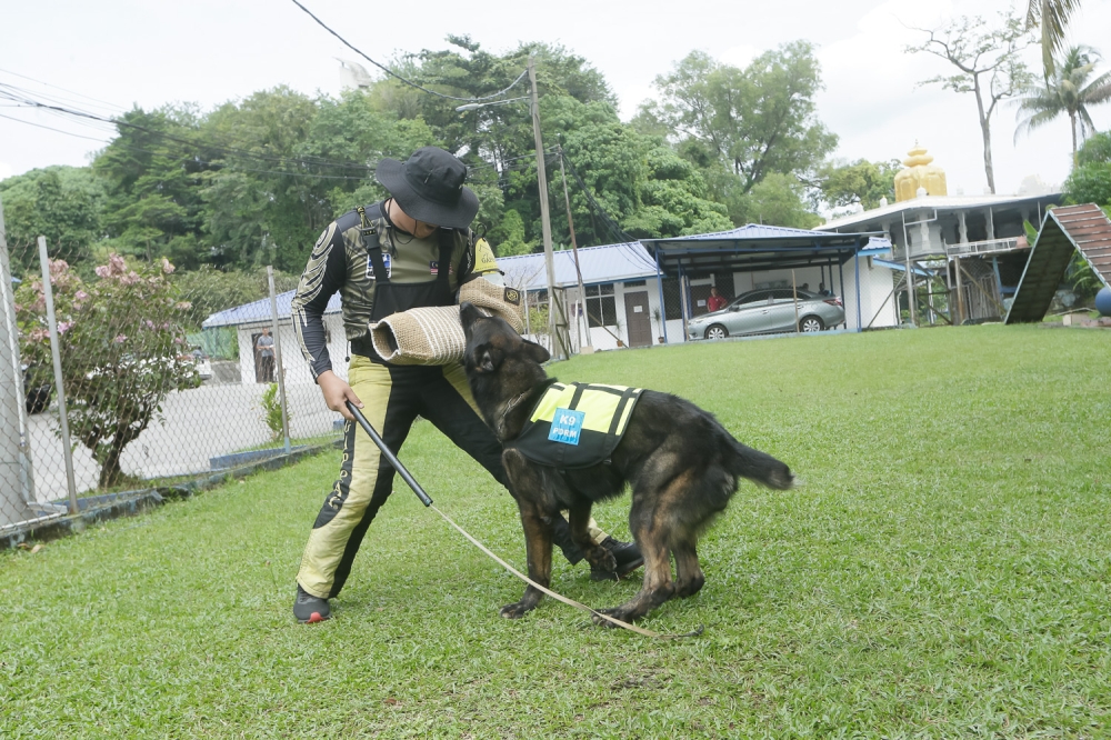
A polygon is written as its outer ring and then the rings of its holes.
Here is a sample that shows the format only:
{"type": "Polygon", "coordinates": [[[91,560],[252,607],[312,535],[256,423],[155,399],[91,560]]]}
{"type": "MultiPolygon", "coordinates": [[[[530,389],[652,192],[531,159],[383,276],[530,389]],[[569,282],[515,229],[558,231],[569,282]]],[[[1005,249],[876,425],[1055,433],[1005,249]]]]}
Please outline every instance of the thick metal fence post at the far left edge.
{"type": "Polygon", "coordinates": [[[11,267],[0,203],[0,527],[34,517],[28,506],[34,500],[30,474],[29,430],[23,396],[23,369],[19,360],[16,300],[11,290],[11,267]]]}

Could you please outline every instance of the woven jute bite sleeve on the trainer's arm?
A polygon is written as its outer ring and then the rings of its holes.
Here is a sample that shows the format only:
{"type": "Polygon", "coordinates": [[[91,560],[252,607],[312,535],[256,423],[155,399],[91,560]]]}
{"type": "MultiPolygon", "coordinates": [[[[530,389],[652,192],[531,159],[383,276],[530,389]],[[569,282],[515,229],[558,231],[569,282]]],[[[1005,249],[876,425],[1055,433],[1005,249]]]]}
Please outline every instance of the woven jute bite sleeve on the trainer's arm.
{"type": "MultiPolygon", "coordinates": [[[[476,278],[459,289],[459,302],[471,302],[488,316],[498,316],[518,333],[524,330],[521,293],[476,278]]],[[[458,306],[436,306],[392,313],[370,324],[378,356],[391,364],[462,362],[467,339],[458,306]]]]}

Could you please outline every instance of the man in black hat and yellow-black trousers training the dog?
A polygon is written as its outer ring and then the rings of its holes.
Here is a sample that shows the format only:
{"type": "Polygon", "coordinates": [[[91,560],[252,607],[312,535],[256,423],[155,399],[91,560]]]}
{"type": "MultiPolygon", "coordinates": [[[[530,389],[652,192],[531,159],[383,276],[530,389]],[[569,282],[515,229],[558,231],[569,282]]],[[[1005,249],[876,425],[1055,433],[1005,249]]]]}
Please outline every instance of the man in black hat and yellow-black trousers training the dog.
{"type": "MultiPolygon", "coordinates": [[[[436,147],[406,162],[383,159],[378,181],[390,192],[381,203],[350,211],[317,240],[293,297],[293,327],[328,408],[348,420],[340,477],[324,499],[301,558],[293,616],[302,623],[331,616],[337,596],[370,522],[390,496],[393,469],[370,438],[358,430],[346,403],[363,410],[397,452],[418,416],[431,421],[503,486],[501,446],[480,418],[459,363],[443,367],[391,366],[374,351],[369,323],[399,311],[451,306],[459,287],[482,274],[498,276],[486,242],[468,228],[479,203],[463,186],[467,167],[436,147]],[[348,380],[332,371],[322,316],[339,291],[351,346],[348,380]]],[[[582,552],[568,524],[553,522],[554,539],[571,562],[582,552]]],[[[642,562],[637,546],[619,542],[592,527],[591,536],[613,552],[618,576],[642,562]]],[[[591,573],[592,578],[614,577],[591,573]]]]}

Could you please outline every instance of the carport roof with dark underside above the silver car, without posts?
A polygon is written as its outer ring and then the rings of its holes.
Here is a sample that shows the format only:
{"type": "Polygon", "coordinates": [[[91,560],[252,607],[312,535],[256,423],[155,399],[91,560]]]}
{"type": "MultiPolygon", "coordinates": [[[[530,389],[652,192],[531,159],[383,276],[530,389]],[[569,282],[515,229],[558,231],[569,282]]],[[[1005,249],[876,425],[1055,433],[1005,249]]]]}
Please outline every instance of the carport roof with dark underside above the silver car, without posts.
{"type": "Polygon", "coordinates": [[[642,239],[641,243],[669,276],[844,264],[858,252],[890,249],[878,232],[837,233],[755,223],[717,233],[642,239]]]}

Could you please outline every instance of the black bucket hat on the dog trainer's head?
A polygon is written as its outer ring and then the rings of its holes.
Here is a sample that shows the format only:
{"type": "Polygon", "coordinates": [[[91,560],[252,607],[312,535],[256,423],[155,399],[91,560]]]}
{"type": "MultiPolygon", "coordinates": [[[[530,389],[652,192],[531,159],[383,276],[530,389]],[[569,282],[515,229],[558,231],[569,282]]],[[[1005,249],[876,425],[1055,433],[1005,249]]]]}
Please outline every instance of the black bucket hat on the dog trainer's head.
{"type": "Polygon", "coordinates": [[[409,217],[452,229],[466,229],[479,212],[479,199],[467,180],[467,166],[439,147],[418,149],[404,162],[382,159],[376,171],[409,217]]]}

